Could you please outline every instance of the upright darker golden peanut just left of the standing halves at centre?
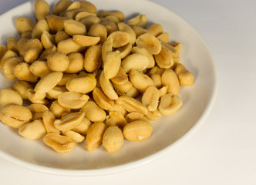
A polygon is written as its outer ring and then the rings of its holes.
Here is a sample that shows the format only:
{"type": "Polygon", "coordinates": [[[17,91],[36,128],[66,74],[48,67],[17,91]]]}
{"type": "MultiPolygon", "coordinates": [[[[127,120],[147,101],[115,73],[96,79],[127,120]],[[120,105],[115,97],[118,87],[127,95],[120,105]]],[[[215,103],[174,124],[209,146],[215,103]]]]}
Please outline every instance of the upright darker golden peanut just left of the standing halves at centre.
{"type": "Polygon", "coordinates": [[[83,66],[87,72],[95,72],[101,66],[101,45],[92,45],[86,50],[83,66]]]}

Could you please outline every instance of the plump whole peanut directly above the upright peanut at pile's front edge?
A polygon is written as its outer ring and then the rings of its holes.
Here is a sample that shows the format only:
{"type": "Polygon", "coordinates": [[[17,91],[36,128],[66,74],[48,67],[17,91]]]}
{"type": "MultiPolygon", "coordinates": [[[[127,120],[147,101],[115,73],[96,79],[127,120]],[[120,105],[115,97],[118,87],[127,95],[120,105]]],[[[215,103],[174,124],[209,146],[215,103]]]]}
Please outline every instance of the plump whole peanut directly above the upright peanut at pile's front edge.
{"type": "Polygon", "coordinates": [[[92,100],[82,107],[82,111],[91,122],[103,122],[106,119],[105,111],[92,100]]]}

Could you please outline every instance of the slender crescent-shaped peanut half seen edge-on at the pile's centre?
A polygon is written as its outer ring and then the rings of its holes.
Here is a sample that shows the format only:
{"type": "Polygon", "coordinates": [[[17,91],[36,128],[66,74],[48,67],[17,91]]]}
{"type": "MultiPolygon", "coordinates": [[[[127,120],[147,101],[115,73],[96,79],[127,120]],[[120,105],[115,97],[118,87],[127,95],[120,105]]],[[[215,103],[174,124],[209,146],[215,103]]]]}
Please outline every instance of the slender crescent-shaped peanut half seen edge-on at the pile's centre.
{"type": "Polygon", "coordinates": [[[106,96],[109,99],[118,99],[118,95],[117,95],[115,89],[113,88],[113,85],[110,82],[110,80],[106,79],[104,71],[102,71],[100,73],[99,84],[100,84],[101,88],[103,89],[104,94],[106,94],[106,96]]]}

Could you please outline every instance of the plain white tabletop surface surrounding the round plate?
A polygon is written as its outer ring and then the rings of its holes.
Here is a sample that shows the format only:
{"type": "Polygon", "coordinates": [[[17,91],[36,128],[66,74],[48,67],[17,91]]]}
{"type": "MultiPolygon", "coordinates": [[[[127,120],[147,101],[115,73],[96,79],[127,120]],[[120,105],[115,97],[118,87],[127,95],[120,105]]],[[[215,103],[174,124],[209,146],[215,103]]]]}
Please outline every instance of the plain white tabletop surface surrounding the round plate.
{"type": "MultiPolygon", "coordinates": [[[[160,160],[102,177],[52,176],[0,159],[1,184],[255,184],[256,2],[154,1],[187,19],[214,52],[219,93],[200,130],[160,160]]],[[[0,14],[23,2],[1,0],[0,14]]]]}

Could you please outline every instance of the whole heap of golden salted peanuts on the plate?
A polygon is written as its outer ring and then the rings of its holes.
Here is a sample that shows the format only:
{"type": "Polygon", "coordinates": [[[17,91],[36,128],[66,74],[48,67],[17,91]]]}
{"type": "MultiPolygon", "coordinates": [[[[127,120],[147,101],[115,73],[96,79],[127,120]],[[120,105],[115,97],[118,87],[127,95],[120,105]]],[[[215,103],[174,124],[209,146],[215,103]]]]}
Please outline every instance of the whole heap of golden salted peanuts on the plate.
{"type": "Polygon", "coordinates": [[[124,22],[91,2],[60,0],[51,11],[36,0],[35,16],[16,18],[20,37],[0,45],[2,74],[15,79],[0,89],[0,120],[58,153],[84,140],[108,152],[146,140],[150,121],[176,113],[180,86],[194,83],[181,44],[146,15],[124,22]]]}

